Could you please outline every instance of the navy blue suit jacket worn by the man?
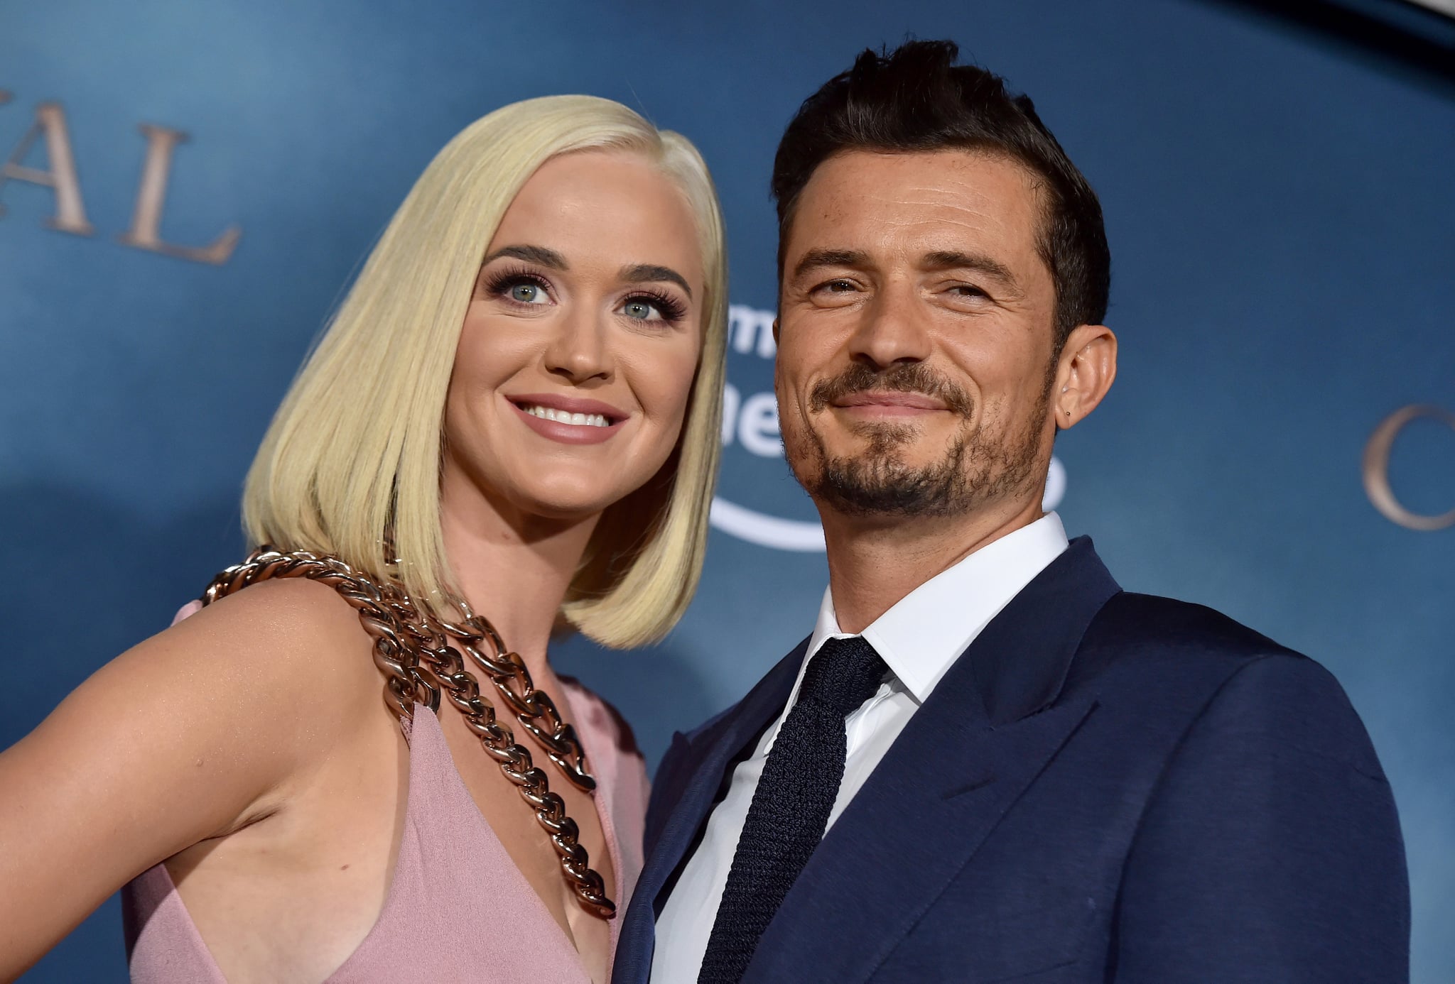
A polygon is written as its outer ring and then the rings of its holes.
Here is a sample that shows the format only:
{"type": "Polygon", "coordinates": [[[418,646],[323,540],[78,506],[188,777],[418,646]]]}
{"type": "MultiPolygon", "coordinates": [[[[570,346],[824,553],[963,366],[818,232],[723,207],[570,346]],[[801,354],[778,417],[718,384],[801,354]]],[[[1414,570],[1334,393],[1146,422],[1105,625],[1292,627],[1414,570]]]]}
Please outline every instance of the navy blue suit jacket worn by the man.
{"type": "MultiPolygon", "coordinates": [[[[647,980],[656,914],[805,645],[674,737],[614,984],[647,980]]],[[[744,981],[1397,984],[1408,930],[1394,799],[1334,679],[1122,592],[1081,538],[914,714],[744,981]]]]}

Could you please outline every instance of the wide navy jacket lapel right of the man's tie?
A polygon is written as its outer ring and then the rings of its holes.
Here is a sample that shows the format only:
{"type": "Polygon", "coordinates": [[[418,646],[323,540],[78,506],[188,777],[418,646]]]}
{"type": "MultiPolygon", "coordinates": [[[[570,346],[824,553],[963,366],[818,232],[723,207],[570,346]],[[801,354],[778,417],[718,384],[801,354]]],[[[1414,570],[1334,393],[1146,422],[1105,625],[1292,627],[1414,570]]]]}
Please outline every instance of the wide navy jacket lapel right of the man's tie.
{"type": "Polygon", "coordinates": [[[873,974],[1094,711],[1058,698],[1117,590],[1083,538],[985,626],[815,850],[745,981],[873,974]]]}

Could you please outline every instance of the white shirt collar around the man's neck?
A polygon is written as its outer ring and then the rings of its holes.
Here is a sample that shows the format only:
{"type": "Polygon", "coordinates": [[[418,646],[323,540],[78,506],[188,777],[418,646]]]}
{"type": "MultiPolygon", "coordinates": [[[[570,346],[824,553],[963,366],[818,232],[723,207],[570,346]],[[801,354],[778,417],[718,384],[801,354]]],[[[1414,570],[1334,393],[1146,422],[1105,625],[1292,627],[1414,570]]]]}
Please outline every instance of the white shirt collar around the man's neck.
{"type": "MultiPolygon", "coordinates": [[[[905,594],[874,619],[863,637],[915,702],[924,703],[981,629],[1065,549],[1067,531],[1061,517],[1046,513],[905,594]]],[[[845,637],[834,612],[832,587],[825,589],[803,666],[825,640],[845,637]]]]}

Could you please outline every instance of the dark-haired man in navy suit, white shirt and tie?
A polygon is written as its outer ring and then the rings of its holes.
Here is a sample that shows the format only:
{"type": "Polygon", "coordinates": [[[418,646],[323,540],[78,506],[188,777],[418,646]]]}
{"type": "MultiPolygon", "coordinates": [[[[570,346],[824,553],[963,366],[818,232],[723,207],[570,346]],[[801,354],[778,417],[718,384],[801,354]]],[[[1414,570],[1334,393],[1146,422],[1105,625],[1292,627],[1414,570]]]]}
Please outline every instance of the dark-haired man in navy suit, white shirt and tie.
{"type": "Polygon", "coordinates": [[[1116,375],[1109,251],[1029,99],[866,51],[774,163],[813,634],[675,735],[614,980],[1408,980],[1388,782],[1317,663],[1120,590],[1042,512],[1116,375]]]}

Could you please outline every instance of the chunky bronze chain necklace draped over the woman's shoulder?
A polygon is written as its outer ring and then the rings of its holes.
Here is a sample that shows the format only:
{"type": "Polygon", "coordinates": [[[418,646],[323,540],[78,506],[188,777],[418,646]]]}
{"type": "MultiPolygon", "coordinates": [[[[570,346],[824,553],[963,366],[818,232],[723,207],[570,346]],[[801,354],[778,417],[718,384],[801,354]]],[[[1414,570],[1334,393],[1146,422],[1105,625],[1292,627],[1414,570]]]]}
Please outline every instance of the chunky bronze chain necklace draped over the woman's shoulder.
{"type": "Polygon", "coordinates": [[[249,584],[276,577],[320,581],[354,606],[374,641],[374,664],[384,673],[384,703],[400,722],[413,719],[416,702],[438,712],[441,693],[448,696],[486,754],[499,763],[505,778],[535,811],[535,820],[560,858],[566,884],[588,911],[601,919],[615,916],[617,907],[607,898],[605,884],[581,846],[581,830],[566,815],[566,801],[550,791],[546,773],[531,763],[531,753],[515,741],[509,725],[496,719],[495,706],[466,669],[469,657],[562,775],[583,792],[595,791],[597,781],[586,770],[586,753],[575,728],[562,719],[550,696],[535,689],[525,663],[505,647],[495,626],[471,612],[464,599],[450,597],[463,618],[447,622],[416,606],[393,581],[380,584],[338,557],[282,552],[271,547],[259,547],[246,561],[214,577],[202,603],[211,605],[249,584]]]}

